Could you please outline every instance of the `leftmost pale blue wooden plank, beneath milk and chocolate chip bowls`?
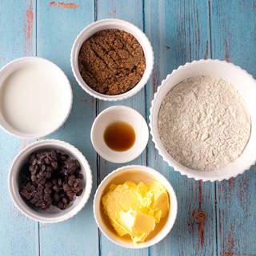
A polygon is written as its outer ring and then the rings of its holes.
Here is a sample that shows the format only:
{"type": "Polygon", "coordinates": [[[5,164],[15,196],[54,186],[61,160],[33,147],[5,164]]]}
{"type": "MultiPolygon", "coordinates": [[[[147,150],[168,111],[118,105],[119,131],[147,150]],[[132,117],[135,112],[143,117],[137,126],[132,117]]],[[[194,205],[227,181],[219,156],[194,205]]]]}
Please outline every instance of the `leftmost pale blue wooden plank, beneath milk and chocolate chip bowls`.
{"type": "MultiPolygon", "coordinates": [[[[35,54],[35,1],[1,2],[0,66],[35,54]]],[[[26,145],[0,130],[0,251],[2,255],[38,255],[38,223],[24,217],[10,200],[7,176],[11,162],[26,145]]]]}

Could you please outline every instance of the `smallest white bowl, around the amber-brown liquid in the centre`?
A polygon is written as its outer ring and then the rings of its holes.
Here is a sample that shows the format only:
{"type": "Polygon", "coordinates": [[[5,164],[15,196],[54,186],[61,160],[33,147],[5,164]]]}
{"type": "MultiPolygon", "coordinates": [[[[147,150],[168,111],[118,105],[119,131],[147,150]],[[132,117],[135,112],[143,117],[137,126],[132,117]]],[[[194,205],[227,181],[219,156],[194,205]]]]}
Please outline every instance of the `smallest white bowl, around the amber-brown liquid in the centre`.
{"type": "Polygon", "coordinates": [[[94,150],[104,159],[110,162],[130,162],[138,158],[145,149],[149,140],[149,129],[145,119],[136,110],[128,106],[110,106],[95,118],[90,130],[90,139],[94,150]],[[104,141],[106,127],[113,122],[127,122],[134,128],[134,145],[126,151],[111,150],[104,141]]]}

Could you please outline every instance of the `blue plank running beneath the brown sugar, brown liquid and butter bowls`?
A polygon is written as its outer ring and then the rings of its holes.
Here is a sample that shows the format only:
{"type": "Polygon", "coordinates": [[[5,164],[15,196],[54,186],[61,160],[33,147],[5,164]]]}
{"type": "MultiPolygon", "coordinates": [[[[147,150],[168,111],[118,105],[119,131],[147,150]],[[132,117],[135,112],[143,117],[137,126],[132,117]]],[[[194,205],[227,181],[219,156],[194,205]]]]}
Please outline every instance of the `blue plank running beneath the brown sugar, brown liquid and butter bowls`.
{"type": "MultiPolygon", "coordinates": [[[[142,13],[142,1],[106,1],[99,0],[97,5],[97,18],[122,18],[128,22],[132,22],[134,25],[143,29],[143,13],[142,13]]],[[[114,105],[126,105],[131,106],[135,110],[138,110],[142,115],[145,114],[145,96],[144,90],[141,90],[134,97],[121,102],[102,102],[98,101],[98,113],[106,109],[106,107],[114,105]]],[[[146,164],[145,152],[137,159],[128,164],[146,164]]],[[[99,158],[99,180],[102,180],[109,174],[110,171],[115,170],[120,166],[126,164],[113,164],[99,158]]],[[[102,255],[147,255],[147,250],[127,250],[119,246],[116,246],[113,242],[110,242],[103,234],[100,236],[100,248],[102,255]]]]}

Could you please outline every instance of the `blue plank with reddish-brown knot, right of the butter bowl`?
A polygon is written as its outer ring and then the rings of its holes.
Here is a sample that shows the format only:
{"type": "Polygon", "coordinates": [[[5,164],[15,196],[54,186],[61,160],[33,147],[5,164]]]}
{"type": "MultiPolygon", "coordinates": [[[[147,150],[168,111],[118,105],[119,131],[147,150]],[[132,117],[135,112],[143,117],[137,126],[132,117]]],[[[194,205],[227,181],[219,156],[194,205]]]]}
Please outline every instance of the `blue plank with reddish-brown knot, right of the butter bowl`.
{"type": "MultiPolygon", "coordinates": [[[[154,74],[146,87],[149,115],[150,101],[166,74],[185,62],[210,58],[207,1],[146,0],[145,29],[155,56],[154,74]]],[[[150,248],[150,255],[215,255],[214,183],[195,182],[174,172],[152,142],[148,164],[169,178],[178,197],[174,228],[165,240],[150,248]]]]}

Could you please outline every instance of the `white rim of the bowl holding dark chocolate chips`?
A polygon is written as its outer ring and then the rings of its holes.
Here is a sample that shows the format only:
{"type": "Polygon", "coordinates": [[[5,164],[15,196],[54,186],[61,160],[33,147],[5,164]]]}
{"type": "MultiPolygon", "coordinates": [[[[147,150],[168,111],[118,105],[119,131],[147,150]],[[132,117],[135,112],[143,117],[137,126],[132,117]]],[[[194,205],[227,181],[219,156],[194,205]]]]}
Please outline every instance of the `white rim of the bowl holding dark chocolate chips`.
{"type": "MultiPolygon", "coordinates": [[[[16,208],[22,213],[24,214],[27,218],[30,218],[31,220],[34,220],[36,222],[41,222],[41,223],[57,223],[57,222],[63,222],[66,221],[69,218],[74,217],[75,214],[78,214],[78,212],[80,210],[82,210],[82,208],[86,205],[86,202],[88,202],[89,198],[90,198],[90,193],[92,190],[92,184],[93,184],[93,179],[92,179],[92,174],[91,174],[91,169],[90,169],[90,165],[87,162],[85,156],[82,154],[82,152],[80,150],[78,150],[75,146],[71,145],[68,142],[64,142],[58,139],[45,139],[45,140],[40,140],[37,142],[33,142],[29,145],[27,145],[26,147],[24,147],[24,149],[22,149],[14,158],[13,162],[11,163],[10,166],[10,170],[8,173],[8,191],[9,191],[9,195],[10,198],[12,200],[12,202],[14,203],[14,206],[16,206],[16,208]],[[82,165],[85,166],[85,174],[86,174],[86,186],[84,189],[84,193],[82,195],[81,201],[78,203],[77,206],[74,206],[74,208],[70,211],[67,211],[65,214],[62,214],[61,216],[58,217],[50,217],[50,218],[46,218],[46,217],[42,217],[42,216],[38,216],[37,214],[31,214],[30,210],[22,210],[22,207],[19,205],[19,203],[17,201],[19,201],[18,198],[16,198],[16,193],[14,192],[14,188],[13,188],[13,182],[12,182],[12,176],[14,174],[14,163],[18,160],[18,158],[20,157],[25,157],[26,156],[26,152],[27,150],[30,150],[31,148],[34,147],[34,151],[37,150],[38,146],[42,146],[42,145],[47,145],[47,144],[54,144],[56,146],[60,146],[62,147],[62,149],[64,150],[70,150],[72,152],[72,154],[78,154],[79,158],[82,159],[82,165]]],[[[28,207],[28,209],[30,209],[30,207],[28,207]]]]}

